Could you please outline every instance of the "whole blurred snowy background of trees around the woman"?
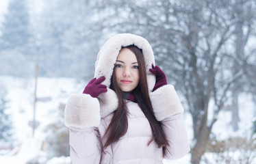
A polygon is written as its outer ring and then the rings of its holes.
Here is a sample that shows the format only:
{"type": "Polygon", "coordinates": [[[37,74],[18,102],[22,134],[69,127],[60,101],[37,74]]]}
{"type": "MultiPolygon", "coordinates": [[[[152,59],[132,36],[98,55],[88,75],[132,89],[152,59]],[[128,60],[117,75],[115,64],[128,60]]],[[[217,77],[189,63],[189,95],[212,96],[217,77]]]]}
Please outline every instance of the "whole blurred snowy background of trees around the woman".
{"type": "Polygon", "coordinates": [[[64,107],[116,33],[149,40],[191,151],[164,163],[256,163],[255,0],[1,0],[0,163],[71,163],[64,107]]]}

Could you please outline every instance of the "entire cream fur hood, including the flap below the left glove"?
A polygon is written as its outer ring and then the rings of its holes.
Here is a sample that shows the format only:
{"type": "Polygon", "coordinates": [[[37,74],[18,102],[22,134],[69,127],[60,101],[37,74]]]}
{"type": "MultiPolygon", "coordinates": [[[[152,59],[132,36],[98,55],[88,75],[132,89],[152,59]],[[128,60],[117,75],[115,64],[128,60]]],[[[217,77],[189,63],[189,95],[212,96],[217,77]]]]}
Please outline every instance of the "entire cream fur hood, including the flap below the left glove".
{"type": "Polygon", "coordinates": [[[155,85],[155,75],[149,69],[152,64],[155,65],[155,57],[149,42],[141,36],[136,36],[131,33],[119,33],[107,40],[98,53],[97,61],[95,62],[94,77],[105,77],[102,84],[107,85],[107,92],[100,94],[99,102],[101,105],[101,117],[112,113],[118,106],[118,98],[116,93],[110,89],[111,77],[114,70],[116,58],[123,46],[129,45],[138,46],[142,49],[146,66],[146,78],[149,87],[149,92],[152,92],[155,85]]]}

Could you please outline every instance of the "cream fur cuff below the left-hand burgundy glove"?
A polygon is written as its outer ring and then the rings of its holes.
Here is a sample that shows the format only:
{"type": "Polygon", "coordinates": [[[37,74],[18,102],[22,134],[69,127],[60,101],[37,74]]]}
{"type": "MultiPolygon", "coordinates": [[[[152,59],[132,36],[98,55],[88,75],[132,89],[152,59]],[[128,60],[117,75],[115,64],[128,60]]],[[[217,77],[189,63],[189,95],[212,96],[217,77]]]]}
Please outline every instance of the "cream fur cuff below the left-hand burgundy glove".
{"type": "Polygon", "coordinates": [[[71,94],[64,111],[65,125],[75,128],[99,126],[99,100],[89,94],[71,94]]]}

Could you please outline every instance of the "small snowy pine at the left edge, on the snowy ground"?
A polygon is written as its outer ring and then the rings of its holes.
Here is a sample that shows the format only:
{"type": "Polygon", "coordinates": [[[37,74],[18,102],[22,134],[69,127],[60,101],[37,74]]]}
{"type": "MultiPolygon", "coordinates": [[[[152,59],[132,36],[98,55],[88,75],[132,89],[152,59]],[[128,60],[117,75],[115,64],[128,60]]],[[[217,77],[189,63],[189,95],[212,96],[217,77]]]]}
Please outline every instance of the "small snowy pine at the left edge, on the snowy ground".
{"type": "Polygon", "coordinates": [[[6,113],[8,101],[5,99],[5,95],[5,90],[0,88],[0,141],[10,141],[12,136],[12,122],[10,115],[6,113]]]}

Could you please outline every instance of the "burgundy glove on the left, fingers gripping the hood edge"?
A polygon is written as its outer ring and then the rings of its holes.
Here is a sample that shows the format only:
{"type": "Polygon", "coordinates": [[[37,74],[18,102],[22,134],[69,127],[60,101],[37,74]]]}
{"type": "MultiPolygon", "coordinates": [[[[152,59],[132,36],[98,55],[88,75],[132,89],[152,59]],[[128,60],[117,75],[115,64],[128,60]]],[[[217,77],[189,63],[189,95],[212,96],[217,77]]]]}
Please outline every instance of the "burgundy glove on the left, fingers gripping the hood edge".
{"type": "Polygon", "coordinates": [[[103,81],[105,81],[105,77],[93,78],[84,88],[83,94],[90,94],[93,98],[97,98],[99,94],[107,92],[107,86],[101,84],[103,81]]]}

